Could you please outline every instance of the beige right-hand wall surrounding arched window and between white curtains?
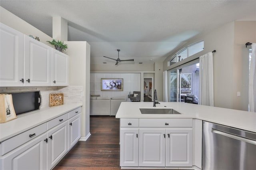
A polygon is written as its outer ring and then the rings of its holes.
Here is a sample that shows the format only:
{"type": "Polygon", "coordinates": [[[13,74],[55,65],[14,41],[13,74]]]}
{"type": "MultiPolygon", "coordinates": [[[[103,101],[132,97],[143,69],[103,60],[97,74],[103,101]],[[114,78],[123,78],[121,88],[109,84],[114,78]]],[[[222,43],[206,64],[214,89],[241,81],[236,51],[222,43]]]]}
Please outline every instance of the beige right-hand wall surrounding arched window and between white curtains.
{"type": "MultiPolygon", "coordinates": [[[[208,34],[188,41],[178,49],[200,40],[204,40],[204,50],[192,55],[191,58],[197,58],[216,49],[216,53],[213,53],[214,106],[216,107],[248,111],[248,90],[247,87],[243,87],[248,79],[248,66],[246,65],[248,48],[246,49],[245,43],[256,42],[255,23],[255,21],[230,22],[208,34]],[[237,91],[241,91],[241,97],[236,96],[237,91]]],[[[164,70],[172,67],[168,67],[167,62],[174,53],[163,62],[164,70]]],[[[186,62],[186,59],[182,62],[186,62]]]]}

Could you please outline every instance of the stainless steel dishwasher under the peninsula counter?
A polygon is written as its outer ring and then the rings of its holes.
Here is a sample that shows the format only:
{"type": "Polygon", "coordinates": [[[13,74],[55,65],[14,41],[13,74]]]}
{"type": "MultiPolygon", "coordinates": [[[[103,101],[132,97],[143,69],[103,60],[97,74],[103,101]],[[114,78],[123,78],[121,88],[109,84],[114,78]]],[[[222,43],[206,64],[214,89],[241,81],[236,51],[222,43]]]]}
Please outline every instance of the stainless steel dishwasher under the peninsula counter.
{"type": "Polygon", "coordinates": [[[256,133],[203,121],[202,170],[255,170],[256,133]]]}

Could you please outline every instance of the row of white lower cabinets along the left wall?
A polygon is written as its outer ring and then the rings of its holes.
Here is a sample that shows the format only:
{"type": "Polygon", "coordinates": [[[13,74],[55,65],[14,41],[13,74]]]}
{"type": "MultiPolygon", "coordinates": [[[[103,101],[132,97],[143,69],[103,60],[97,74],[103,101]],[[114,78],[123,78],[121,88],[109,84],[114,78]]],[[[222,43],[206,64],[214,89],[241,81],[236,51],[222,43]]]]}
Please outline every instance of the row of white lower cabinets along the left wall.
{"type": "Polygon", "coordinates": [[[81,137],[81,108],[0,142],[0,170],[50,170],[81,137]]]}

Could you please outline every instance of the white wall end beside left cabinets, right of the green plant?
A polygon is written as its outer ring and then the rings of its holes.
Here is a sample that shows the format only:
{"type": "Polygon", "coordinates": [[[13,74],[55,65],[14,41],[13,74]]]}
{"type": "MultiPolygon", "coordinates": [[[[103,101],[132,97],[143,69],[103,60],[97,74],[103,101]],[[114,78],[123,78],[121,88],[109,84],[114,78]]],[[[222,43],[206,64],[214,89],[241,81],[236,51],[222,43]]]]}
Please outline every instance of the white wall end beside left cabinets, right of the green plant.
{"type": "Polygon", "coordinates": [[[90,45],[87,42],[64,42],[68,45],[70,85],[83,87],[81,113],[81,136],[90,135],[90,45]]]}

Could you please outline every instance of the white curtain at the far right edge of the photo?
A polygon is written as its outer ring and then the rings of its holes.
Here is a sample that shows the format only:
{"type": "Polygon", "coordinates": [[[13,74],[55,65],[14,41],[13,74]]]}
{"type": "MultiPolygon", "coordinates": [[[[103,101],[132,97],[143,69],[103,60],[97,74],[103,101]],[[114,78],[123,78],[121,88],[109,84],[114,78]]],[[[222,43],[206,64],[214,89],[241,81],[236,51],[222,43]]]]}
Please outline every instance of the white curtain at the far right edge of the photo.
{"type": "Polygon", "coordinates": [[[256,43],[252,43],[252,58],[249,73],[249,111],[256,112],[256,43]]]}

